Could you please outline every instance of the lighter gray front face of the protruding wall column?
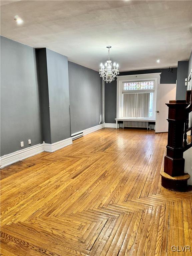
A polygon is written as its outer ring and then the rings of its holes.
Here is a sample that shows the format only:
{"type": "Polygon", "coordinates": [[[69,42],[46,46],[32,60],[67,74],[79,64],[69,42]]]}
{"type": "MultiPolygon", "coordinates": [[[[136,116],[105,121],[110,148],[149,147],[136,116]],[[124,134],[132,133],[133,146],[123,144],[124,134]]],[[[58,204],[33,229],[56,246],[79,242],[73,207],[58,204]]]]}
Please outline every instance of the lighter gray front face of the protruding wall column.
{"type": "Polygon", "coordinates": [[[71,136],[69,114],[69,77],[67,57],[46,49],[51,142],[71,136]]]}

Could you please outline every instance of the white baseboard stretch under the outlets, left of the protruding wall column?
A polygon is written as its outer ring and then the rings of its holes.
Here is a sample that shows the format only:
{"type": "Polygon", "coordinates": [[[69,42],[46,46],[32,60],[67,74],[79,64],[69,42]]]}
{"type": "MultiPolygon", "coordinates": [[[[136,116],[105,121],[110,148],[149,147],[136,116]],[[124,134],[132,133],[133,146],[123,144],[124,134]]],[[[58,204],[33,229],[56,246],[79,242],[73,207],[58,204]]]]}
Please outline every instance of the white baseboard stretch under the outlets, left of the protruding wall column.
{"type": "Polygon", "coordinates": [[[16,163],[18,161],[21,161],[25,158],[28,158],[30,156],[34,156],[36,154],[39,154],[44,151],[44,144],[38,144],[35,146],[32,146],[30,148],[24,148],[18,151],[15,151],[13,153],[4,155],[0,157],[1,161],[1,168],[16,163]]]}

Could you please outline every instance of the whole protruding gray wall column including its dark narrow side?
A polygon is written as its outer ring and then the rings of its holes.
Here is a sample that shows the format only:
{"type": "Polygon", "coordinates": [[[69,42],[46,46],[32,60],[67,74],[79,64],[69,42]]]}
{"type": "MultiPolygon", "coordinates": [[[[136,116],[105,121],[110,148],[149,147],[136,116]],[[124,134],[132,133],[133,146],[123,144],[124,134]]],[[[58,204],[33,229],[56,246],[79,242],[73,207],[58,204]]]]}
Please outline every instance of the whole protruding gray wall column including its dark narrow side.
{"type": "Polygon", "coordinates": [[[44,141],[71,137],[67,57],[49,49],[37,49],[44,141]]]}

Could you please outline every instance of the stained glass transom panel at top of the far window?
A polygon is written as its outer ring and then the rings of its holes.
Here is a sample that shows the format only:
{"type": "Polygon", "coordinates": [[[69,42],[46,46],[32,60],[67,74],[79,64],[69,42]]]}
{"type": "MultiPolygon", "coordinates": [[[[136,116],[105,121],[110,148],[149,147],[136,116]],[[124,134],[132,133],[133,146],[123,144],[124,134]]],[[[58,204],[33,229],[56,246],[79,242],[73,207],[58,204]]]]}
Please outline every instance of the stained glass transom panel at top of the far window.
{"type": "Polygon", "coordinates": [[[124,91],[127,90],[150,90],[154,89],[154,81],[126,82],[124,83],[124,91]]]}

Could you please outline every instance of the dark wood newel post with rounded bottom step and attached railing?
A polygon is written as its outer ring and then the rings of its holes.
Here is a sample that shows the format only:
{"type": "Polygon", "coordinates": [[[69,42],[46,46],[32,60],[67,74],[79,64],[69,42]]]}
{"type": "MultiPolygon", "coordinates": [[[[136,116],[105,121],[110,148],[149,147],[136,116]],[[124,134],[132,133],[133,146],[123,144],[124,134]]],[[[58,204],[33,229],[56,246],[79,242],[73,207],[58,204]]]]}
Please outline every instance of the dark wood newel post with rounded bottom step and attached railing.
{"type": "Polygon", "coordinates": [[[169,128],[164,170],[161,170],[161,184],[167,189],[188,191],[192,186],[187,185],[190,175],[184,173],[183,152],[192,147],[192,142],[187,141],[187,133],[190,132],[189,137],[192,135],[192,93],[190,103],[186,100],[170,100],[166,105],[169,107],[167,119],[169,128]]]}

